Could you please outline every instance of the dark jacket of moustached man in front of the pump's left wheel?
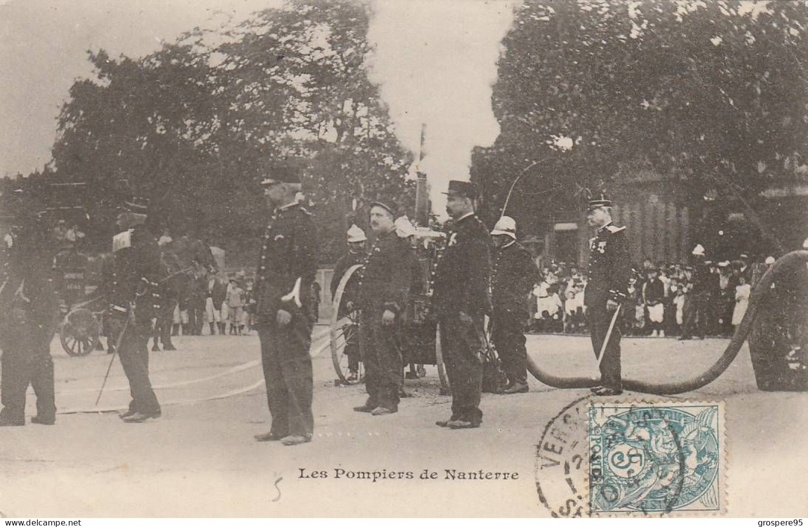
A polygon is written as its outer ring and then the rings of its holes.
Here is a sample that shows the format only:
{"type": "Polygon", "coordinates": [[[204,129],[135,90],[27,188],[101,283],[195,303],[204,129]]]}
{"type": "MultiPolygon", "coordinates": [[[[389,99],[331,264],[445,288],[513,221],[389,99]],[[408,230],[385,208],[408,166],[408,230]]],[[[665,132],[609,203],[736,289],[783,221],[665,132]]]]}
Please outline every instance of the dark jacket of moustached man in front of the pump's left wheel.
{"type": "Polygon", "coordinates": [[[406,309],[415,267],[412,247],[395,231],[381,234],[365,259],[360,281],[360,307],[363,310],[406,309]]]}

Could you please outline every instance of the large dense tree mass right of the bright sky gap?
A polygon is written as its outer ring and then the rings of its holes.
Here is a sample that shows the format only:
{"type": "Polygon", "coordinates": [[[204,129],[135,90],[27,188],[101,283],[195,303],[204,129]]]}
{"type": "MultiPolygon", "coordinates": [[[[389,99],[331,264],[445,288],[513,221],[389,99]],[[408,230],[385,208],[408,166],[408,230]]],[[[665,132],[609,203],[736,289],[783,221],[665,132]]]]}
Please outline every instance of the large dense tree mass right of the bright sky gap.
{"type": "MultiPolygon", "coordinates": [[[[808,154],[806,27],[803,2],[525,2],[494,86],[502,133],[473,160],[496,197],[490,215],[547,155],[559,162],[530,179],[536,192],[553,178],[598,188],[639,164],[682,202],[754,207],[808,154]]],[[[569,194],[537,200],[549,209],[569,194]]]]}

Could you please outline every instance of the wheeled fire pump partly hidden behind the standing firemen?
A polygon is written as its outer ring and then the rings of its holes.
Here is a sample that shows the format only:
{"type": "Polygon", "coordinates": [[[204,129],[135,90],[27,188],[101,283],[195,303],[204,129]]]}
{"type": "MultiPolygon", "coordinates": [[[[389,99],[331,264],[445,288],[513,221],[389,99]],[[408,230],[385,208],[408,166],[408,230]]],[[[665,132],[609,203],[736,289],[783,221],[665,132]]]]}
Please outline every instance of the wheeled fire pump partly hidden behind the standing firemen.
{"type": "MultiPolygon", "coordinates": [[[[409,365],[435,365],[440,377],[441,393],[448,393],[448,377],[440,352],[437,321],[430,312],[431,272],[437,255],[442,250],[444,234],[429,229],[418,229],[410,236],[418,262],[406,308],[405,327],[402,331],[403,363],[409,365]]],[[[361,265],[348,268],[339,277],[331,314],[331,359],[337,373],[336,382],[352,384],[362,378],[362,360],[359,346],[360,310],[356,306],[361,265]]],[[[419,368],[422,370],[422,368],[419,368]]]]}

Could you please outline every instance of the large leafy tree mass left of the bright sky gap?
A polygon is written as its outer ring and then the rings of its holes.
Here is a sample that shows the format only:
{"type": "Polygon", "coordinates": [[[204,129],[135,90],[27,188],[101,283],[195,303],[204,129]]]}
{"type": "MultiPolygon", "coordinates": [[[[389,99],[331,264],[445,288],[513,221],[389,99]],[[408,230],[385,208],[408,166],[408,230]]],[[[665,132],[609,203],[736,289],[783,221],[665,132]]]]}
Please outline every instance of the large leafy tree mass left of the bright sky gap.
{"type": "Polygon", "coordinates": [[[107,222],[106,196],[127,179],[162,223],[243,253],[266,216],[260,179],[297,167],[333,261],[355,205],[410,204],[411,158],[368,81],[367,27],[359,2],[292,0],[139,60],[91,53],[96,78],[61,112],[57,171],[93,183],[107,222]]]}

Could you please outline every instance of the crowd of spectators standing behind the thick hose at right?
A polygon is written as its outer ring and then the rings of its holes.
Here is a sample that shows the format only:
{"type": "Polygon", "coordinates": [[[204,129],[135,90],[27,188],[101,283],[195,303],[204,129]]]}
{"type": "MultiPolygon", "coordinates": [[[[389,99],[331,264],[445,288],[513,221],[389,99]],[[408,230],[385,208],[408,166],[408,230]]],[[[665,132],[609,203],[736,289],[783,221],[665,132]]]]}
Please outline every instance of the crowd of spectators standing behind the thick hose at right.
{"type": "MultiPolygon", "coordinates": [[[[732,335],[746,312],[753,280],[771,263],[771,258],[751,263],[747,255],[739,255],[733,261],[707,260],[704,263],[709,268],[707,335],[732,335]]],[[[688,314],[693,274],[693,268],[683,263],[652,263],[646,259],[633,265],[628,296],[621,306],[623,334],[681,335],[688,314]]],[[[551,262],[541,267],[539,282],[530,298],[530,330],[534,333],[586,333],[587,314],[583,303],[586,285],[586,272],[574,263],[551,262]]]]}

